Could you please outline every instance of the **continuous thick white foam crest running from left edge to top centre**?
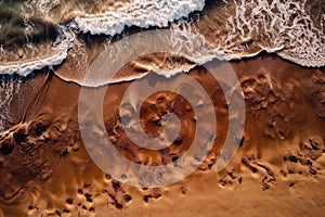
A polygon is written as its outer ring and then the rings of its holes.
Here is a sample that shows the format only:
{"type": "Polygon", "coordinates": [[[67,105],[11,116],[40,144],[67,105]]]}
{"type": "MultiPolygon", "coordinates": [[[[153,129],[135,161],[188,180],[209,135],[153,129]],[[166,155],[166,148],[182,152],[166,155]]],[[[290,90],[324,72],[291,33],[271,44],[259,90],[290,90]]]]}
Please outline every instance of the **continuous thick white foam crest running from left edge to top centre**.
{"type": "MultiPolygon", "coordinates": [[[[43,15],[48,15],[49,11],[56,4],[56,1],[51,3],[48,0],[42,0],[37,3],[37,7],[43,15]]],[[[136,0],[131,4],[119,8],[118,11],[76,17],[65,26],[57,26],[60,35],[53,44],[54,50],[56,50],[54,54],[2,64],[0,65],[0,74],[27,76],[32,71],[61,64],[66,59],[68,49],[74,43],[76,37],[74,31],[114,36],[120,34],[126,26],[166,27],[168,22],[187,16],[193,11],[203,10],[205,0],[136,0]]]]}

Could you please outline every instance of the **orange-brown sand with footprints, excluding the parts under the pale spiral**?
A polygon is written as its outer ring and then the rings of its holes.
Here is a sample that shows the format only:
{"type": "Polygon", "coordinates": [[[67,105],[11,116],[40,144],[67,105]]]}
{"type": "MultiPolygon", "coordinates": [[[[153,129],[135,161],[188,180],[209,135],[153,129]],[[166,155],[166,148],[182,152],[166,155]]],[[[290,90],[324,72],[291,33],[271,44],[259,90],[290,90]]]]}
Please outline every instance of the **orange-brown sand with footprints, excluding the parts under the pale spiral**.
{"type": "MultiPolygon", "coordinates": [[[[246,102],[245,131],[234,158],[222,171],[213,169],[229,112],[218,82],[196,67],[188,74],[207,90],[217,113],[213,148],[187,178],[154,189],[120,183],[90,158],[78,127],[78,85],[52,72],[30,77],[42,84],[35,95],[22,92],[34,103],[23,122],[0,138],[0,216],[322,216],[325,69],[303,68],[271,54],[231,65],[246,102]]],[[[110,85],[105,95],[103,117],[115,146],[140,164],[182,156],[195,133],[186,100],[158,92],[145,101],[141,123],[147,133],[159,133],[159,118],[170,111],[182,128],[164,152],[141,149],[125,136],[118,116],[130,84],[110,85]]]]}

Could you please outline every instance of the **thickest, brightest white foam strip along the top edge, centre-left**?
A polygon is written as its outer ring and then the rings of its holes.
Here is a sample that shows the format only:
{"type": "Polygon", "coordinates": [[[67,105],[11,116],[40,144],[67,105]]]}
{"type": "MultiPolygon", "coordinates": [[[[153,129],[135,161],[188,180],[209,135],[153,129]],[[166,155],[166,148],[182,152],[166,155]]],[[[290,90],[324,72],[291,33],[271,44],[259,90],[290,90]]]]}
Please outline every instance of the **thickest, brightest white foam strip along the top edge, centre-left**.
{"type": "Polygon", "coordinates": [[[204,5],[205,0],[135,0],[117,11],[76,17],[75,22],[82,33],[114,36],[126,26],[167,27],[169,22],[202,11],[204,5]]]}

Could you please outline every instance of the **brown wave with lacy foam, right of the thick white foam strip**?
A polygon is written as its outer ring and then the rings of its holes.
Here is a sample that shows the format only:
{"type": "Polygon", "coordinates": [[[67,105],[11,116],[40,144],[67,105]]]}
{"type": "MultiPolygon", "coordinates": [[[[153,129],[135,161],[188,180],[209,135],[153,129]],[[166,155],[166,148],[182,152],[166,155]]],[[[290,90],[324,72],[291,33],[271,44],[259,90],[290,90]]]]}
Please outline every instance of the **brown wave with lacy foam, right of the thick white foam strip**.
{"type": "Polygon", "coordinates": [[[210,3],[200,18],[180,23],[182,38],[206,44],[205,54],[225,60],[276,52],[302,66],[325,65],[325,3],[306,1],[234,0],[210,3]]]}

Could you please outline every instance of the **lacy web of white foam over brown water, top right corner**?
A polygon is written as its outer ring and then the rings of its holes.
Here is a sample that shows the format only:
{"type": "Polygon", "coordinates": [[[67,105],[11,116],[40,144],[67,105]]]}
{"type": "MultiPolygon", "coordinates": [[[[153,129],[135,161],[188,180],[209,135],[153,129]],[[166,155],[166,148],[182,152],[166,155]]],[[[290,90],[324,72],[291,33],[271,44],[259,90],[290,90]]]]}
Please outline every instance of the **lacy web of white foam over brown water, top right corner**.
{"type": "Polygon", "coordinates": [[[312,22],[310,12],[306,11],[309,3],[307,0],[274,0],[272,3],[268,0],[234,2],[236,13],[227,20],[227,28],[238,29],[243,41],[257,41],[257,37],[262,36],[270,41],[271,51],[283,48],[276,53],[284,59],[302,66],[325,65],[324,15],[320,21],[320,29],[312,22]]]}

